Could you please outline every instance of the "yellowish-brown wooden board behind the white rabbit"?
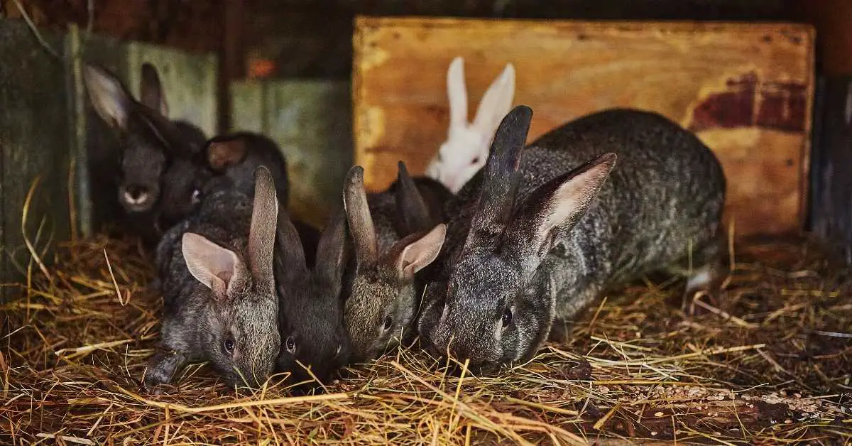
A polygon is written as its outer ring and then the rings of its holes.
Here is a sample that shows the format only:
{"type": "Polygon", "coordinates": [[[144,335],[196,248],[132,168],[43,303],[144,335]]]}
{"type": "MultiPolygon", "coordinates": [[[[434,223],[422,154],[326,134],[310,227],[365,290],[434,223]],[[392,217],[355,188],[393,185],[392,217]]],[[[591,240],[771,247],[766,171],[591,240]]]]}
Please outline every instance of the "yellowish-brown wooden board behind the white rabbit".
{"type": "Polygon", "coordinates": [[[737,235],[802,228],[814,32],[791,24],[636,23],[359,17],[354,35],[355,162],[381,190],[404,160],[425,170],[446,138],[446,69],[465,59],[469,115],[504,65],[530,141],[606,107],[653,110],[694,130],[728,177],[737,235]]]}

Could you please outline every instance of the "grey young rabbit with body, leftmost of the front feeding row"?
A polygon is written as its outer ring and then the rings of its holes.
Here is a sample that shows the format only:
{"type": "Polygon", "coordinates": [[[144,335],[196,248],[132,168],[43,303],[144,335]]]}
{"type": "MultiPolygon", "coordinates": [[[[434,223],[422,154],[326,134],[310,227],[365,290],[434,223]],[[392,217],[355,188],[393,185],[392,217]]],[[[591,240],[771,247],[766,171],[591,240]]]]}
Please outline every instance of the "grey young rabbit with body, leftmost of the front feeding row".
{"type": "Polygon", "coordinates": [[[143,384],[170,383],[190,362],[212,363],[229,385],[256,387],[273,372],[281,344],[273,254],[279,202],[268,169],[254,200],[216,179],[199,211],[160,241],[161,340],[143,384]]]}

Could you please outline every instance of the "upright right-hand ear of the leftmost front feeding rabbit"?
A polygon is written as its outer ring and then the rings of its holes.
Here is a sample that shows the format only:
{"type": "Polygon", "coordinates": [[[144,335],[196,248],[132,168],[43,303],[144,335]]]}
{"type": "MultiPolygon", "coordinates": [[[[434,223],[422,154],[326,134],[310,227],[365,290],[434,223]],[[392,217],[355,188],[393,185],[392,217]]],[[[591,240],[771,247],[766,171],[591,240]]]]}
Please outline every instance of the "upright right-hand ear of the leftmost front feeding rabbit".
{"type": "Polygon", "coordinates": [[[249,264],[255,287],[261,293],[273,293],[273,252],[278,219],[278,197],[272,173],[260,166],[255,171],[255,200],[249,229],[249,264]]]}

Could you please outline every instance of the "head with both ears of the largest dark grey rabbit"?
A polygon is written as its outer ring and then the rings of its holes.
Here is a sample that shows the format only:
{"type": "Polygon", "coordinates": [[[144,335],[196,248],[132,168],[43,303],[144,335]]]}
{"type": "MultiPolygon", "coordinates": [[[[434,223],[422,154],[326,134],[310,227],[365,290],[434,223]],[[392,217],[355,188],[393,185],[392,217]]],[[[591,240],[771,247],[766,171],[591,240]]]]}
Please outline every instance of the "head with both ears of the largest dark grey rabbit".
{"type": "Polygon", "coordinates": [[[433,304],[420,322],[430,350],[448,350],[481,371],[526,360],[546,339],[556,303],[552,294],[531,291],[533,275],[558,235],[584,215],[615,163],[614,153],[604,154],[516,204],[531,119],[532,110],[521,106],[501,123],[466,239],[448,263],[446,283],[429,285],[433,304]]]}

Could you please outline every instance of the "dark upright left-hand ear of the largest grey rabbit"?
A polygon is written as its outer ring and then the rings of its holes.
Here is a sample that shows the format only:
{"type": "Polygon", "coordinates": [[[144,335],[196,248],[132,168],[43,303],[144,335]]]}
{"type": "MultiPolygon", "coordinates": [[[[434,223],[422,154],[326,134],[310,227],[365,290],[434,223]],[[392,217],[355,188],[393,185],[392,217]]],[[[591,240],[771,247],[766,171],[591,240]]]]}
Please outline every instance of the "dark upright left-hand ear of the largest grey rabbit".
{"type": "Polygon", "coordinates": [[[530,107],[518,106],[500,123],[484,167],[480,199],[469,234],[496,235],[509,223],[521,177],[518,171],[521,149],[527,141],[532,119],[530,107]]]}

